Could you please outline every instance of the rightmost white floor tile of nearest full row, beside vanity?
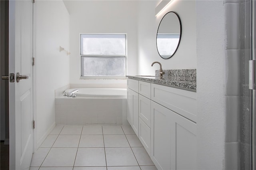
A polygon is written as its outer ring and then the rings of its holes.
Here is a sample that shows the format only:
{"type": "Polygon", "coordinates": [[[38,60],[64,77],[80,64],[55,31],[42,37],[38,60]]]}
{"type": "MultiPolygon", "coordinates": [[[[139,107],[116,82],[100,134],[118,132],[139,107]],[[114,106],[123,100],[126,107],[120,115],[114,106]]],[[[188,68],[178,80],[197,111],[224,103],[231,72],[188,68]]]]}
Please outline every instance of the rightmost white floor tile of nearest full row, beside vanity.
{"type": "Polygon", "coordinates": [[[141,148],[132,148],[132,151],[139,163],[140,166],[143,165],[154,165],[154,163],[152,162],[152,160],[150,159],[150,157],[148,156],[147,151],[145,150],[145,148],[141,147],[141,148]]]}

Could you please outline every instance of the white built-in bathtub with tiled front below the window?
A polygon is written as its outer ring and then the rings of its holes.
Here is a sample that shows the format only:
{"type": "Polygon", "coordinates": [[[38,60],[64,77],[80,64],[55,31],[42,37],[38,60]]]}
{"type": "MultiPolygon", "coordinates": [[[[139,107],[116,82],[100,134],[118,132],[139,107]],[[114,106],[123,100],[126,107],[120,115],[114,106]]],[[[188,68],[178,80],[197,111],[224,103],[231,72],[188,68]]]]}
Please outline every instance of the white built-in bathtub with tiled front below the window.
{"type": "MultiPolygon", "coordinates": [[[[77,88],[77,97],[55,98],[58,125],[128,125],[126,89],[77,88]]],[[[70,90],[70,89],[69,89],[70,90]]]]}

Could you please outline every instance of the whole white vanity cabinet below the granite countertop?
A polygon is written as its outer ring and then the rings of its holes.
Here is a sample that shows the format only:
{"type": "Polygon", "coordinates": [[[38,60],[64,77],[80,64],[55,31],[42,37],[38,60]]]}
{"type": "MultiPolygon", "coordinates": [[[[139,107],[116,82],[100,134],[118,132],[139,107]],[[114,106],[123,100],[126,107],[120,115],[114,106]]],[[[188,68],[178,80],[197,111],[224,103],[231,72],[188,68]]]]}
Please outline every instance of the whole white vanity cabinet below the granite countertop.
{"type": "Polygon", "coordinates": [[[127,93],[127,119],[157,169],[196,170],[196,92],[128,79],[127,93]]]}

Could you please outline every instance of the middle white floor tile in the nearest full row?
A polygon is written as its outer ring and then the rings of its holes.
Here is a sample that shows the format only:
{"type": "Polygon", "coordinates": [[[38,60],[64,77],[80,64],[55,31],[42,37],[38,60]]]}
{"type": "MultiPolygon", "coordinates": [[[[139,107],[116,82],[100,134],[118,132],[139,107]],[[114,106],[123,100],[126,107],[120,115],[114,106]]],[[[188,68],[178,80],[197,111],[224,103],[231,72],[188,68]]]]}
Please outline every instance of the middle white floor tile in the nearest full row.
{"type": "Polygon", "coordinates": [[[104,148],[78,148],[74,166],[106,166],[104,148]]]}

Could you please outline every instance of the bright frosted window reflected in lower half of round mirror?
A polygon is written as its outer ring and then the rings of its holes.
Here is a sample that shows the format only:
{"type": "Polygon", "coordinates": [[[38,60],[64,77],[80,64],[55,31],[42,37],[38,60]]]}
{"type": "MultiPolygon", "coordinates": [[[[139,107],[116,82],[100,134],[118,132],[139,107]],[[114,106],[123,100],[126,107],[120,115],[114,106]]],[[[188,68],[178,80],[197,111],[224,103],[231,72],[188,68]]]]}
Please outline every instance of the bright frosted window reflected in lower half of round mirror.
{"type": "Polygon", "coordinates": [[[161,56],[171,56],[177,48],[180,35],[158,35],[156,39],[161,56]]]}

